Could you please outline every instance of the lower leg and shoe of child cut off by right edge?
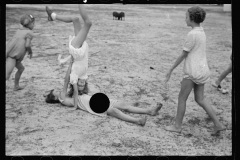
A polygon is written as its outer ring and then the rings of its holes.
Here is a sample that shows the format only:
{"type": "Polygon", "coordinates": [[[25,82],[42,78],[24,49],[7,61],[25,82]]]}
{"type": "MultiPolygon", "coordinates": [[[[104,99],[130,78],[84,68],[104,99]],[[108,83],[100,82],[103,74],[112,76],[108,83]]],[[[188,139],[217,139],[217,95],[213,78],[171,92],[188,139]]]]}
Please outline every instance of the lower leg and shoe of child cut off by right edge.
{"type": "Polygon", "coordinates": [[[222,89],[222,87],[221,87],[221,82],[222,82],[222,80],[223,80],[224,78],[227,77],[227,75],[228,75],[229,73],[232,72],[232,55],[231,55],[230,59],[231,59],[231,63],[230,63],[230,65],[229,65],[229,67],[228,67],[225,71],[223,71],[222,74],[218,77],[218,79],[217,79],[215,82],[213,82],[213,84],[212,84],[213,87],[216,87],[216,88],[217,88],[218,90],[220,90],[223,94],[228,92],[227,90],[222,89]]]}

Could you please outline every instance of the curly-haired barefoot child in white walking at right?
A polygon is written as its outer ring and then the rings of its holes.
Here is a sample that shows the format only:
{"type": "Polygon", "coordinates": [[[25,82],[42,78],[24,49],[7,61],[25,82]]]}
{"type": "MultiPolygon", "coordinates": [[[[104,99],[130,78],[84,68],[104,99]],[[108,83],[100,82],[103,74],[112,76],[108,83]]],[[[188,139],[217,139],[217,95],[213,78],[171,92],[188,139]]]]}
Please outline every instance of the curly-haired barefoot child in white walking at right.
{"type": "Polygon", "coordinates": [[[191,7],[186,12],[186,24],[192,27],[183,46],[183,52],[166,74],[165,83],[170,79],[172,71],[184,61],[184,76],[178,97],[178,109],[175,124],[165,129],[171,132],[181,132],[182,120],[185,114],[187,98],[194,88],[195,101],[207,112],[214,123],[214,134],[224,130],[218,121],[212,107],[204,99],[204,84],[209,80],[210,71],[206,59],[206,36],[200,26],[206,12],[198,7],[191,7]]]}

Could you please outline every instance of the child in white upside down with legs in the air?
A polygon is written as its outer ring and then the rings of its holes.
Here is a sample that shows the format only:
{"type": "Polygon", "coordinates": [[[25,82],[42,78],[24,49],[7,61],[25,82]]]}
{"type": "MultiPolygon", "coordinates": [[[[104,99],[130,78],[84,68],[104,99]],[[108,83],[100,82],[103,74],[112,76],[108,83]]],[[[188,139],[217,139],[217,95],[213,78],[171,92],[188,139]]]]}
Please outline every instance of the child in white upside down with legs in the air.
{"type": "Polygon", "coordinates": [[[49,7],[46,6],[46,11],[48,14],[48,20],[59,20],[66,23],[73,22],[75,36],[69,37],[69,52],[74,58],[74,63],[72,65],[72,70],[70,74],[70,83],[73,85],[74,89],[74,107],[77,108],[77,97],[78,97],[78,81],[80,79],[87,79],[87,69],[88,69],[88,44],[85,41],[88,32],[92,26],[92,22],[89,20],[87,12],[82,4],[78,5],[80,15],[83,18],[84,25],[81,28],[80,20],[75,16],[63,16],[52,12],[49,7]],[[84,72],[85,74],[80,74],[84,72]]]}

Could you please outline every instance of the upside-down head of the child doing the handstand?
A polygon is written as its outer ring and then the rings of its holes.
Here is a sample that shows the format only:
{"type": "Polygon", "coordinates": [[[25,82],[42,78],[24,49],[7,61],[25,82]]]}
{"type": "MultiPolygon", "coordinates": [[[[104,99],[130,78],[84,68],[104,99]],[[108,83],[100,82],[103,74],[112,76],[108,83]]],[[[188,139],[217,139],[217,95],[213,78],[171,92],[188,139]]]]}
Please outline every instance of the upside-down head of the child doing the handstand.
{"type": "MultiPolygon", "coordinates": [[[[77,82],[77,87],[78,87],[78,95],[82,95],[82,94],[88,94],[88,82],[87,79],[78,79],[77,82]]],[[[70,90],[68,92],[68,96],[72,97],[73,96],[73,85],[70,84],[70,90]]]]}

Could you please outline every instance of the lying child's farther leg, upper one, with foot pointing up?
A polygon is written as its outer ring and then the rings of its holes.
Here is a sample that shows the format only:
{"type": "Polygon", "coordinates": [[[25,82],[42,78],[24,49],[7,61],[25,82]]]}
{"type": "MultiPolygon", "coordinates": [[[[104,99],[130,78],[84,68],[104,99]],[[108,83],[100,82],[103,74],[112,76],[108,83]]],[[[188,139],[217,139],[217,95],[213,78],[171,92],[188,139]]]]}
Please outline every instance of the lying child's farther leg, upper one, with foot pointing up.
{"type": "Polygon", "coordinates": [[[162,104],[157,104],[155,108],[138,108],[131,106],[129,103],[126,102],[118,102],[116,105],[114,105],[115,108],[124,110],[126,112],[130,113],[138,113],[138,114],[149,114],[152,116],[157,115],[158,111],[162,108],[162,104]]]}

